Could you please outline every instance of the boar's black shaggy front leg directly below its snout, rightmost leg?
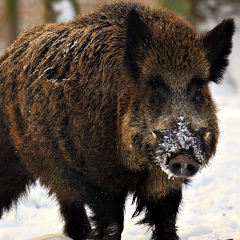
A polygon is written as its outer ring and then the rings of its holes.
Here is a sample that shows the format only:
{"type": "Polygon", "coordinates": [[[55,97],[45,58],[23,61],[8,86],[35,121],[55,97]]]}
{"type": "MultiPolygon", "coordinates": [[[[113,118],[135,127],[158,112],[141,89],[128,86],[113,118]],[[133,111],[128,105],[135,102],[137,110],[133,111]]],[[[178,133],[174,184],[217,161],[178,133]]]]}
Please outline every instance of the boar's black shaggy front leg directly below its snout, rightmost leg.
{"type": "Polygon", "coordinates": [[[137,201],[137,211],[145,209],[145,218],[140,222],[151,227],[153,240],[177,240],[176,217],[182,191],[171,191],[159,199],[143,199],[137,201]]]}

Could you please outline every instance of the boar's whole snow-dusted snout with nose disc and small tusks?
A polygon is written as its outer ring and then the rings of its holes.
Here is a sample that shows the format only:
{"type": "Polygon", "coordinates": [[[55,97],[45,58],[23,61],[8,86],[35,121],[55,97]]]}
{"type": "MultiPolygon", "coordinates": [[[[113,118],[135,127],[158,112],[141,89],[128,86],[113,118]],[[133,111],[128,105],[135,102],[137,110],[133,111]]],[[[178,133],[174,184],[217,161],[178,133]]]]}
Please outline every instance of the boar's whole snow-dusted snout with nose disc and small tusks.
{"type": "Polygon", "coordinates": [[[154,163],[169,178],[192,177],[207,164],[206,143],[211,143],[211,134],[206,128],[192,129],[179,117],[174,128],[153,131],[152,136],[157,142],[154,163]]]}

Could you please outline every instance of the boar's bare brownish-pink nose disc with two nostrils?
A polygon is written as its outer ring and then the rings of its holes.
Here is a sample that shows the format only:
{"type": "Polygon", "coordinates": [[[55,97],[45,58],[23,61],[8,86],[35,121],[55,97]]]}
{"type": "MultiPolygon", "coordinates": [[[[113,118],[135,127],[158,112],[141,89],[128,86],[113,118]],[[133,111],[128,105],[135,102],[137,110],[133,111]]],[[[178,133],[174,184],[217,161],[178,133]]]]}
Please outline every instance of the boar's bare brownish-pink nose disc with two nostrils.
{"type": "Polygon", "coordinates": [[[168,167],[175,176],[185,178],[192,177],[199,170],[198,162],[187,154],[179,154],[170,159],[168,167]]]}

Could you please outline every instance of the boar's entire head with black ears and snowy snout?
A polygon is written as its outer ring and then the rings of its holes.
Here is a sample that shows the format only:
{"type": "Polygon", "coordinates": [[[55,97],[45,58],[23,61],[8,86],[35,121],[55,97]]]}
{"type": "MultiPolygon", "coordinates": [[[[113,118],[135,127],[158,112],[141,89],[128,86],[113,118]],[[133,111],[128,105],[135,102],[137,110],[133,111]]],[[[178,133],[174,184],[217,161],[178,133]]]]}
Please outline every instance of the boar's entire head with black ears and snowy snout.
{"type": "Polygon", "coordinates": [[[219,128],[209,85],[220,82],[228,65],[233,19],[198,35],[171,12],[132,9],[125,24],[131,98],[122,138],[128,165],[192,177],[216,151],[219,128]]]}

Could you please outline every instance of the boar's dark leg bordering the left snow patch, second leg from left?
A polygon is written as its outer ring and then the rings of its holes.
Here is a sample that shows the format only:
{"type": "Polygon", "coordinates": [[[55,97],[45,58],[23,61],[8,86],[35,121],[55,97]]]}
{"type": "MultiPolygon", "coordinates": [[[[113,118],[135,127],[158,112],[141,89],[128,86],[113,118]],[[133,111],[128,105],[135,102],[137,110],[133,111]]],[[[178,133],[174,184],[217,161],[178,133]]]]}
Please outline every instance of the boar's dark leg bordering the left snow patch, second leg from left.
{"type": "Polygon", "coordinates": [[[60,211],[65,221],[64,233],[74,240],[88,239],[91,226],[81,202],[60,202],[60,211]]]}

